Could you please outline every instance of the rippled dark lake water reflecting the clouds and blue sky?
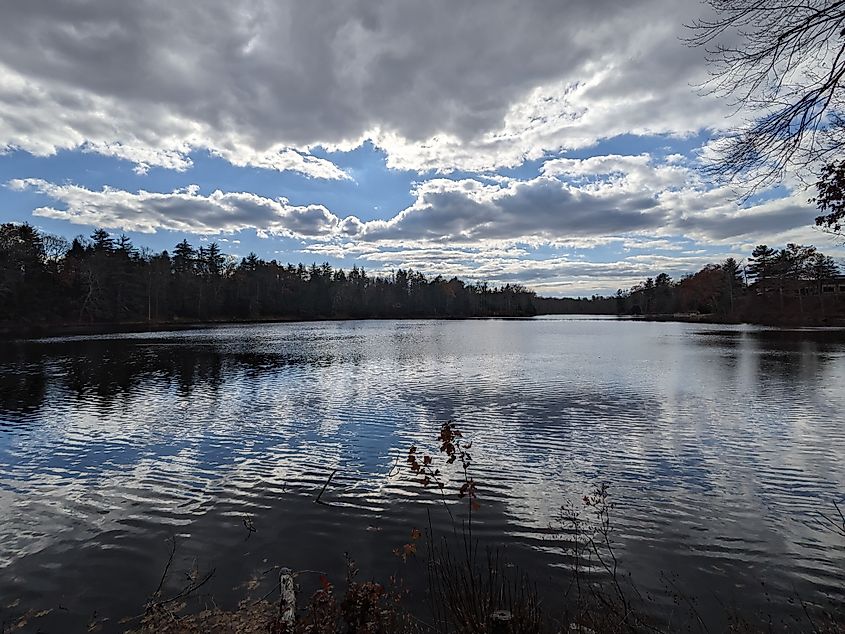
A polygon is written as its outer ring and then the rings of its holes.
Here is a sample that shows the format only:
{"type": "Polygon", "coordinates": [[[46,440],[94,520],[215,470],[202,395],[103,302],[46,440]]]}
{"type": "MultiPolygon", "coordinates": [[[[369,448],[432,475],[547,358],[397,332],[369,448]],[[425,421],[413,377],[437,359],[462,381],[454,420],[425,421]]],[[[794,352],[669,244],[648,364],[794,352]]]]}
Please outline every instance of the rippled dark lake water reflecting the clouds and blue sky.
{"type": "Polygon", "coordinates": [[[720,628],[727,606],[788,627],[798,597],[845,600],[845,539],[819,524],[845,497],[842,331],[316,322],[0,353],[0,621],[50,609],[45,630],[120,631],[174,536],[171,592],[215,570],[195,602],[260,597],[274,565],[339,575],[344,552],[364,576],[413,576],[392,549],[426,511],[450,529],[404,459],[436,452],[448,419],[473,442],[474,536],[547,611],[568,583],[560,508],[603,481],[617,556],[673,624],[720,628]]]}

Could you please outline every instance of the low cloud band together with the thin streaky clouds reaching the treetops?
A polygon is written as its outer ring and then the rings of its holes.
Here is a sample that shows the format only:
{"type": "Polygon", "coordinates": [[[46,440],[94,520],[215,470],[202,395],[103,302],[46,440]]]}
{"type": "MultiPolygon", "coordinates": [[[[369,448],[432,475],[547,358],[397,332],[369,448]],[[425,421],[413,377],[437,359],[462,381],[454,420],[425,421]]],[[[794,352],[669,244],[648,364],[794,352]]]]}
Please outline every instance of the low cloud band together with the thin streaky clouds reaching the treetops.
{"type": "Polygon", "coordinates": [[[375,272],[414,268],[552,294],[612,293],[657,272],[678,277],[729,255],[740,259],[761,242],[817,237],[800,193],[740,206],[732,191],[701,183],[686,159],[648,154],[549,160],[526,179],[425,180],[414,202],[386,220],[249,192],[206,195],[196,186],[162,193],[39,179],[8,186],[55,201],[34,211],[41,217],[143,232],[254,230],[297,238],[305,255],[375,272]],[[600,246],[607,249],[597,256],[600,246]]]}

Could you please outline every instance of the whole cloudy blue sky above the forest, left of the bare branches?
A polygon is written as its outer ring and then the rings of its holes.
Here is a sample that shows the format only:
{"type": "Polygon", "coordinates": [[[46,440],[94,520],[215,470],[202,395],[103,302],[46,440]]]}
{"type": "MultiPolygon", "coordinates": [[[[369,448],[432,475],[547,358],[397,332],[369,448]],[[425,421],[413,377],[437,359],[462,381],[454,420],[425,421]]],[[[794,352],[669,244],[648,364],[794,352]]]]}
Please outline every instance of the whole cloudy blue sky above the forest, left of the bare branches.
{"type": "Polygon", "coordinates": [[[757,244],[845,251],[798,181],[742,202],[693,0],[0,5],[0,221],[240,258],[612,294],[757,244]]]}

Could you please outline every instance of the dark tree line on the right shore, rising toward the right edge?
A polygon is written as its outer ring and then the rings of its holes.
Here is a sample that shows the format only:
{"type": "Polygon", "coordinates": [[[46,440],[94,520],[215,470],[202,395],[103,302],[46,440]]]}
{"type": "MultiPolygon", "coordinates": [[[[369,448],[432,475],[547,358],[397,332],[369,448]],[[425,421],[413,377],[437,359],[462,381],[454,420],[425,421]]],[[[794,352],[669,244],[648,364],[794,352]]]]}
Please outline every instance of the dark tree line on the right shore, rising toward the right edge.
{"type": "Polygon", "coordinates": [[[536,300],[541,313],[708,315],[720,321],[813,323],[845,317],[845,280],[816,247],[759,245],[673,280],[660,273],[613,296],[536,300]]]}

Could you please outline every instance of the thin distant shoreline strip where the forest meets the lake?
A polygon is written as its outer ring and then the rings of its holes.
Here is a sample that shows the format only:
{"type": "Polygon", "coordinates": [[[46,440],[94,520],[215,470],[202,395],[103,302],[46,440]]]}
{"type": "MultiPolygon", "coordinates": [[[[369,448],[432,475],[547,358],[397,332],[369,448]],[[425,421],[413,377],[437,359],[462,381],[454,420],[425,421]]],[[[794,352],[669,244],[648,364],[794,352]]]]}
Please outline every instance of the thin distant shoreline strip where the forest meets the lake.
{"type": "Polygon", "coordinates": [[[10,341],[16,339],[41,339],[46,337],[73,337],[84,335],[110,335],[129,334],[143,332],[173,332],[182,330],[201,330],[204,328],[223,326],[246,326],[255,324],[286,324],[286,323],[310,323],[318,321],[414,321],[414,320],[442,320],[442,321],[464,321],[464,320],[531,320],[535,317],[560,316],[583,316],[583,317],[615,317],[620,321],[652,321],[652,322],[676,322],[693,324],[724,324],[737,325],[748,324],[755,326],[769,326],[773,328],[808,328],[828,327],[845,328],[845,320],[832,319],[824,321],[793,321],[793,320],[767,320],[759,322],[737,321],[720,318],[713,314],[697,313],[675,313],[675,314],[649,314],[649,315],[618,315],[609,313],[540,313],[534,316],[511,317],[511,316],[481,316],[481,317],[445,317],[445,316],[414,316],[414,317],[278,317],[278,318],[256,318],[256,319],[220,319],[220,320],[178,320],[178,321],[157,321],[157,322],[118,322],[118,323],[73,323],[73,324],[29,324],[13,325],[0,324],[0,340],[10,341]]]}

